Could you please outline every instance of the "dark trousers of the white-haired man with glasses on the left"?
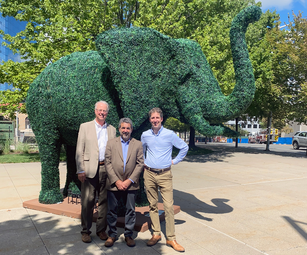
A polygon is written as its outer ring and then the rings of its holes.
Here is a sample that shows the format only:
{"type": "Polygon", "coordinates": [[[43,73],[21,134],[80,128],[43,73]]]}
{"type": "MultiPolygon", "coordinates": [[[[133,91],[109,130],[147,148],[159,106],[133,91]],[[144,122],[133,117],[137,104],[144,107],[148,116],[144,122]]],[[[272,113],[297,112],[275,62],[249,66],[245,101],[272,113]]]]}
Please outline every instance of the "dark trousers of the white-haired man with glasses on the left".
{"type": "Polygon", "coordinates": [[[81,234],[91,234],[95,196],[98,196],[98,218],[96,222],[96,233],[107,230],[107,173],[104,166],[98,166],[94,178],[86,177],[81,184],[82,206],[81,206],[81,234]]]}

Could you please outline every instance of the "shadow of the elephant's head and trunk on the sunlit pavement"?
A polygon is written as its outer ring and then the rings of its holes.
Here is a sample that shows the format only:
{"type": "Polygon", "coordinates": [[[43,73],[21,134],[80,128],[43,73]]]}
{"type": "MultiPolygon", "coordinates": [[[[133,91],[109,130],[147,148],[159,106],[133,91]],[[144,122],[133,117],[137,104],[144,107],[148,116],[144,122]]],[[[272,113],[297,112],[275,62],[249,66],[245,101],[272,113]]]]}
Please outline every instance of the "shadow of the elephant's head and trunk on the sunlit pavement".
{"type": "Polygon", "coordinates": [[[212,221],[213,218],[204,217],[205,214],[227,214],[233,211],[233,208],[226,204],[229,199],[213,198],[211,202],[215,205],[209,205],[189,194],[180,190],[173,190],[174,204],[180,206],[180,210],[185,213],[205,221],[212,221]]]}

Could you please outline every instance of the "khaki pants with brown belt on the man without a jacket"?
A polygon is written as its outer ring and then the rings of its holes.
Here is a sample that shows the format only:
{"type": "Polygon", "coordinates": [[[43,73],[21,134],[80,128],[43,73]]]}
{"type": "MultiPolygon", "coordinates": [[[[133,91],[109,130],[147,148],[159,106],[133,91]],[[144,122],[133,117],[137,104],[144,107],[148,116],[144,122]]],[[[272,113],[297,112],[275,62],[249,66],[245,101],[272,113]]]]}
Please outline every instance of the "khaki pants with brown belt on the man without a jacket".
{"type": "Polygon", "coordinates": [[[175,217],[173,206],[173,175],[171,171],[162,174],[155,174],[145,169],[144,183],[147,199],[149,201],[149,214],[152,222],[154,235],[161,235],[161,226],[158,213],[158,187],[163,199],[165,211],[166,239],[176,240],[175,217]]]}

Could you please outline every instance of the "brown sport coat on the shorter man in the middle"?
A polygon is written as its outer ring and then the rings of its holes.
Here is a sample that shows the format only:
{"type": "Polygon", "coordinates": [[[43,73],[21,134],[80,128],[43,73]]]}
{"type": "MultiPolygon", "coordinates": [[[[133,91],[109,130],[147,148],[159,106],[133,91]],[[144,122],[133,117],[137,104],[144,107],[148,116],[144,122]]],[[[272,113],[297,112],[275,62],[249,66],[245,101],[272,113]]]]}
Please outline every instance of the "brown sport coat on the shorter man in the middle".
{"type": "Polygon", "coordinates": [[[104,156],[104,166],[109,179],[109,183],[107,182],[107,190],[117,191],[115,182],[118,180],[125,181],[126,179],[134,181],[126,190],[138,190],[140,188],[138,178],[144,168],[143,145],[141,141],[134,138],[130,140],[125,173],[120,136],[108,140],[104,156]]]}

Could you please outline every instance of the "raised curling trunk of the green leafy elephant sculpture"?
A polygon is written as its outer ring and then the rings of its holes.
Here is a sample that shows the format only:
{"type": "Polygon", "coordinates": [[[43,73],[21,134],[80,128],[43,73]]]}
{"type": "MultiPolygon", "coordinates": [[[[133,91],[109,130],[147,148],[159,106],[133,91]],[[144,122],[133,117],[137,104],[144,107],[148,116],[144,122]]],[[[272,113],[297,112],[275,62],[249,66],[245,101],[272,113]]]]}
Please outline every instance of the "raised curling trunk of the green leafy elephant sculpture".
{"type": "Polygon", "coordinates": [[[239,116],[252,102],[255,95],[255,77],[249,59],[245,33],[247,26],[258,21],[262,11],[258,6],[249,6],[239,12],[231,22],[230,45],[235,69],[235,88],[227,101],[239,116]]]}

